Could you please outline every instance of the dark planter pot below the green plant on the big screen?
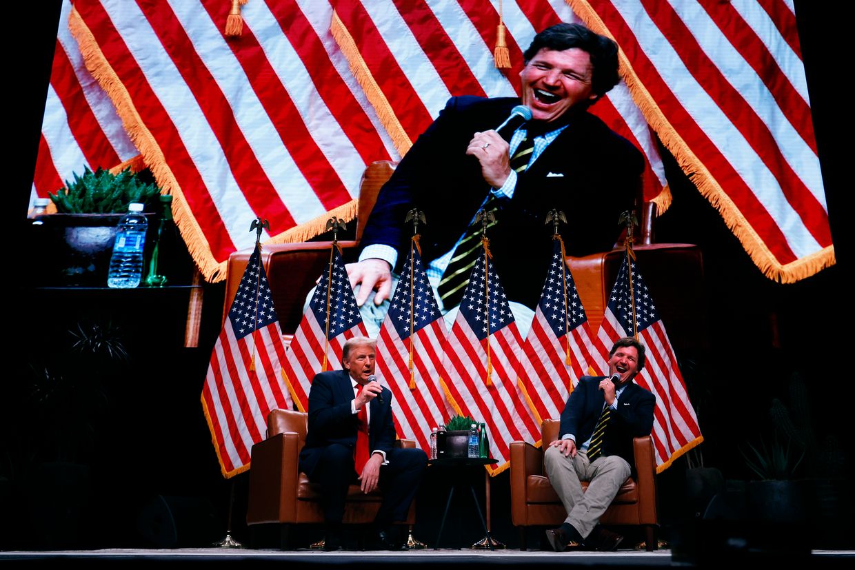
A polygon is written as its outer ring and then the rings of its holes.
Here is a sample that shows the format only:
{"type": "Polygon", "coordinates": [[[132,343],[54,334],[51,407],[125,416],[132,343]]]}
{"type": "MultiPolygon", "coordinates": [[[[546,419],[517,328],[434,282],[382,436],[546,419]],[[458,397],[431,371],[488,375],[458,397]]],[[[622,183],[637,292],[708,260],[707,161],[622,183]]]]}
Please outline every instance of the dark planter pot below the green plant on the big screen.
{"type": "Polygon", "coordinates": [[[116,226],[124,214],[49,214],[32,226],[35,255],[42,263],[36,285],[107,286],[116,226]]]}

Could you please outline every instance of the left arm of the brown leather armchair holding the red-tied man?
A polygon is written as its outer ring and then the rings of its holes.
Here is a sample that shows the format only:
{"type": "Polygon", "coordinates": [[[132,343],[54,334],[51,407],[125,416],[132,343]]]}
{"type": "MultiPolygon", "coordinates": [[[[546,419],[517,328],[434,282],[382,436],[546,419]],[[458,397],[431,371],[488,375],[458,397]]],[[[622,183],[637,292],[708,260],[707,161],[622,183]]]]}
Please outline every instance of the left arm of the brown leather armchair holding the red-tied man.
{"type": "Polygon", "coordinates": [[[252,446],[247,524],[297,521],[299,446],[294,432],[252,446]]]}

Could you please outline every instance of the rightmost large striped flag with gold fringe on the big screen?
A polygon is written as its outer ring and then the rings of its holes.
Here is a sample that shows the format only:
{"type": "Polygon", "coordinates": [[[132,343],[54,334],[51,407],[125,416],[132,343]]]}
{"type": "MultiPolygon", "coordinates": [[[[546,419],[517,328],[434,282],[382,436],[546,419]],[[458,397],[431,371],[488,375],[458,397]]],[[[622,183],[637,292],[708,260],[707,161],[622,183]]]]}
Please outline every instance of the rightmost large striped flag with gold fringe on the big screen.
{"type": "Polygon", "coordinates": [[[791,3],[571,3],[616,38],[647,118],[765,273],[834,262],[791,3]]]}

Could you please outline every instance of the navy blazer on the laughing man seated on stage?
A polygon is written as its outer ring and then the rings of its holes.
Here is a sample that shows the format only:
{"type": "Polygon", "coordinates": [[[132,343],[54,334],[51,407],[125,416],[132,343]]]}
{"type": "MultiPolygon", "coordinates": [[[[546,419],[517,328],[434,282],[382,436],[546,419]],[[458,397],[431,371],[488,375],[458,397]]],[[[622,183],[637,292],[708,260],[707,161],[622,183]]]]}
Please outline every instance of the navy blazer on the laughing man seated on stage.
{"type": "MultiPolygon", "coordinates": [[[[561,413],[559,438],[573,434],[580,447],[591,438],[605,403],[603,392],[599,390],[599,382],[604,378],[583,376],[579,380],[561,413]]],[[[630,466],[634,465],[633,438],[650,435],[655,407],[656,397],[630,381],[617,399],[617,409],[612,411],[606,428],[604,454],[620,455],[630,466]]]]}

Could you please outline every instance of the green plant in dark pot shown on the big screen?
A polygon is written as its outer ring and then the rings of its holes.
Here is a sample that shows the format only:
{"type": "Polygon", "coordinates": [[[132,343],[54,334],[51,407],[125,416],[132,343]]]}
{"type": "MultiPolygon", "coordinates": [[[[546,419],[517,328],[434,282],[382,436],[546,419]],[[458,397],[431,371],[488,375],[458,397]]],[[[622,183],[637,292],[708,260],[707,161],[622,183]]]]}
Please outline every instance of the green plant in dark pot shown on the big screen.
{"type": "MultiPolygon", "coordinates": [[[[128,204],[155,204],[160,190],[144,173],[119,173],[84,167],[49,194],[56,214],[40,216],[35,243],[46,254],[40,285],[106,285],[116,226],[128,204]]],[[[146,208],[146,211],[150,211],[146,208]]]]}

